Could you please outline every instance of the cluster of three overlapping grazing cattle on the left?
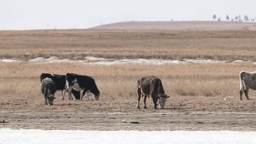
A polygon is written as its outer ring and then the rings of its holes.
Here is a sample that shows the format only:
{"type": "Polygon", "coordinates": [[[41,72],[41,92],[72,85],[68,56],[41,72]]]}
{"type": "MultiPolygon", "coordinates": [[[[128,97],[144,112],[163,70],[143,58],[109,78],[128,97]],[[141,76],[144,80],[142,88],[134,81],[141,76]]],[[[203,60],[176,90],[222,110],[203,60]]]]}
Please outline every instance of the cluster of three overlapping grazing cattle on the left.
{"type": "Polygon", "coordinates": [[[53,98],[55,99],[55,92],[62,90],[62,97],[64,99],[65,94],[68,92],[69,99],[82,99],[87,97],[87,93],[91,92],[94,95],[95,100],[99,100],[101,91],[93,78],[85,75],[79,75],[74,73],[67,73],[66,75],[58,75],[51,73],[42,73],[40,76],[41,90],[45,96],[45,105],[53,105],[53,98]],[[80,91],[82,92],[82,97],[80,91]],[[72,98],[72,95],[75,98],[72,98]]]}

